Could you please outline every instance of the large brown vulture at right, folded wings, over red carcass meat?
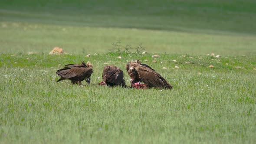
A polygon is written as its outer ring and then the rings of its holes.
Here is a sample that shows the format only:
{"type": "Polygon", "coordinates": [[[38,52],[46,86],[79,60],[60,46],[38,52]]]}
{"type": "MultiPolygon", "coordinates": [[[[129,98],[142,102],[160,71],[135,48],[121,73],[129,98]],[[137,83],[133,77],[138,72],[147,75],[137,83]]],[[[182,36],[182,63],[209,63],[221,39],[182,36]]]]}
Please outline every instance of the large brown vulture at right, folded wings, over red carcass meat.
{"type": "Polygon", "coordinates": [[[146,64],[141,64],[139,60],[128,62],[126,70],[131,77],[132,87],[138,85],[138,82],[144,82],[145,87],[148,88],[173,88],[158,72],[146,64]]]}

